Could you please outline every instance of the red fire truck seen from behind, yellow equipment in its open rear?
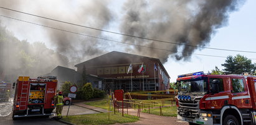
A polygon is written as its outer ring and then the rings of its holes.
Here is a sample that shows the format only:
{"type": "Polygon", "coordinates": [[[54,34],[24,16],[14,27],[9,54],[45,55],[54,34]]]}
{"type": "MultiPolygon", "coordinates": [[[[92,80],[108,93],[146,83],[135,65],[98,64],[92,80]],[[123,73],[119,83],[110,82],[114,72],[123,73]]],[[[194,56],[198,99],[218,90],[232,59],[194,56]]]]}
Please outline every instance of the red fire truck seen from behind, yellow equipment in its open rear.
{"type": "Polygon", "coordinates": [[[16,82],[12,118],[49,116],[54,110],[56,89],[56,77],[31,79],[20,76],[16,82]]]}

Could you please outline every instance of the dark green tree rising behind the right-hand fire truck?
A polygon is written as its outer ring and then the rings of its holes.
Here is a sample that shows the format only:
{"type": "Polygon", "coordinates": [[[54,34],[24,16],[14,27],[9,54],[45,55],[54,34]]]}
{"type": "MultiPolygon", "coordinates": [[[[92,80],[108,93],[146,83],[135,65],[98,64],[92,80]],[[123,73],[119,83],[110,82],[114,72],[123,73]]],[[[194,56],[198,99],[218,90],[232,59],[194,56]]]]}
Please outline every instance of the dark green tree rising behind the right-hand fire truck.
{"type": "Polygon", "coordinates": [[[242,74],[243,72],[255,72],[256,64],[252,63],[251,59],[240,54],[237,56],[227,56],[224,64],[225,74],[242,74]]]}

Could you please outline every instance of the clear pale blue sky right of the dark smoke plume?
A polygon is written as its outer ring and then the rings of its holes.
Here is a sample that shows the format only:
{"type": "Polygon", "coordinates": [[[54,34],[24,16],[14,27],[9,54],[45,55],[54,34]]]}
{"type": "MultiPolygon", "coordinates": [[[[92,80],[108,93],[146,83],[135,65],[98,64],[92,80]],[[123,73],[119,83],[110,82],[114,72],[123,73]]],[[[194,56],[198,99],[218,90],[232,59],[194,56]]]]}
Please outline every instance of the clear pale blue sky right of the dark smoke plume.
{"type": "MultiPolygon", "coordinates": [[[[212,39],[208,47],[211,48],[223,48],[229,50],[245,50],[256,51],[256,1],[246,1],[239,11],[232,12],[229,15],[229,22],[227,26],[219,28],[215,35],[212,35],[212,39]]],[[[197,50],[195,53],[202,54],[214,54],[217,56],[235,56],[236,54],[242,54],[247,58],[252,59],[252,62],[256,63],[255,53],[237,53],[229,51],[217,51],[217,50],[197,50]]],[[[166,70],[171,76],[171,82],[174,82],[179,74],[186,74],[189,72],[204,71],[208,72],[214,69],[215,66],[219,69],[223,69],[221,66],[225,62],[225,58],[214,58],[207,56],[193,55],[191,61],[175,61],[169,58],[168,63],[164,64],[166,70]]]]}

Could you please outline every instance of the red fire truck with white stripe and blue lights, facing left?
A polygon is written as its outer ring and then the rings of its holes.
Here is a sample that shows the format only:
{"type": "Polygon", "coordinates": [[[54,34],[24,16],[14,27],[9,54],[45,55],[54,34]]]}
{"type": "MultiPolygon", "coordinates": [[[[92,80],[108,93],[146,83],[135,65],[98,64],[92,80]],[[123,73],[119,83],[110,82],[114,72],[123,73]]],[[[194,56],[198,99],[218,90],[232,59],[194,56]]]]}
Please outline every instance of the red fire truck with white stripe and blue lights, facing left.
{"type": "Polygon", "coordinates": [[[178,75],[178,119],[189,124],[256,124],[256,76],[178,75]]]}

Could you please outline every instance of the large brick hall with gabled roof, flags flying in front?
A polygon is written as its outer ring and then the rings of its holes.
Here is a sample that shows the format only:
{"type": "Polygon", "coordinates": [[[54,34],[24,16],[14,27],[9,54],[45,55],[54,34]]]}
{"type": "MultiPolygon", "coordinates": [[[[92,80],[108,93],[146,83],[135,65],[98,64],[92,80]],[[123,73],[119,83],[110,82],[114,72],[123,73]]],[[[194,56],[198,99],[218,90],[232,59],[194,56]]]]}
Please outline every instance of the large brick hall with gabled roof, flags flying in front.
{"type": "Polygon", "coordinates": [[[75,67],[80,74],[85,71],[88,75],[101,78],[102,81],[93,82],[93,87],[102,90],[151,91],[169,88],[168,72],[156,58],[112,51],[75,67]],[[128,72],[130,64],[132,69],[128,72]],[[143,71],[139,73],[141,65],[143,71]]]}

